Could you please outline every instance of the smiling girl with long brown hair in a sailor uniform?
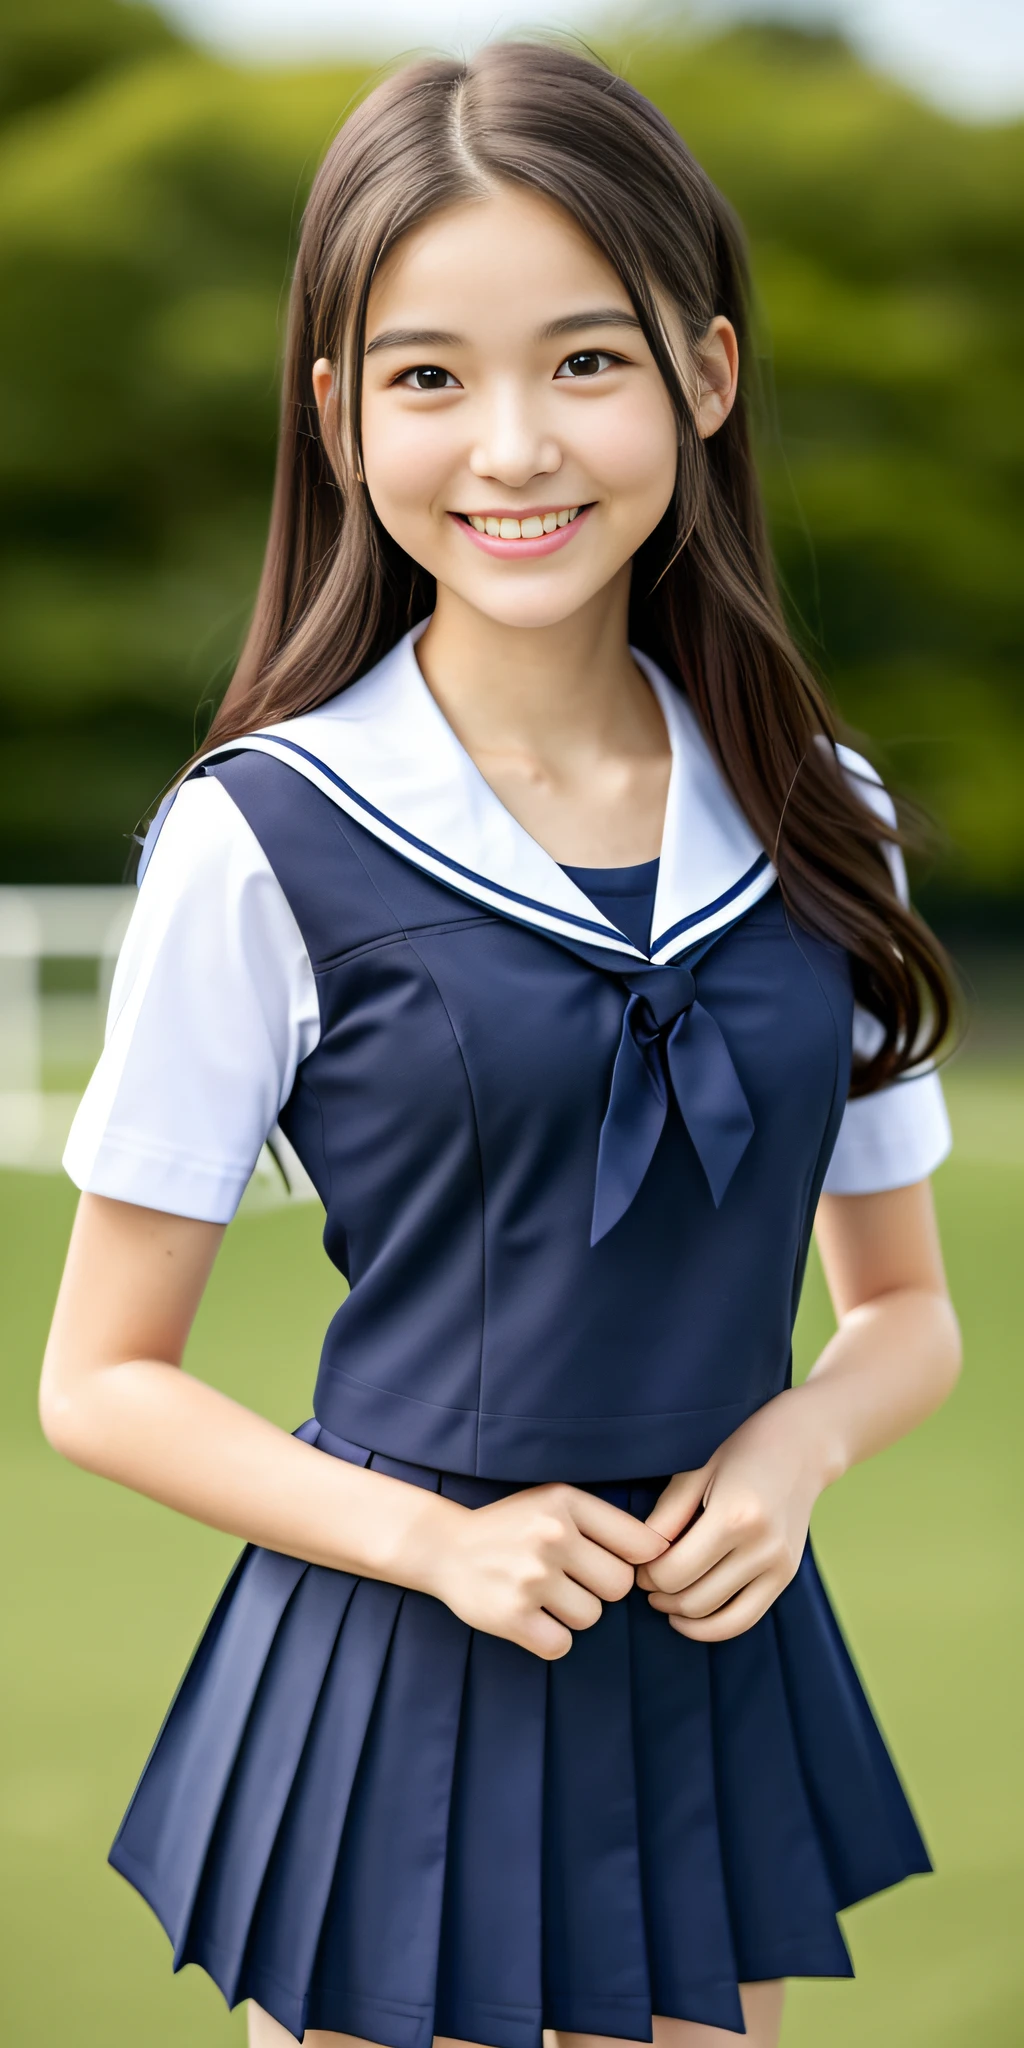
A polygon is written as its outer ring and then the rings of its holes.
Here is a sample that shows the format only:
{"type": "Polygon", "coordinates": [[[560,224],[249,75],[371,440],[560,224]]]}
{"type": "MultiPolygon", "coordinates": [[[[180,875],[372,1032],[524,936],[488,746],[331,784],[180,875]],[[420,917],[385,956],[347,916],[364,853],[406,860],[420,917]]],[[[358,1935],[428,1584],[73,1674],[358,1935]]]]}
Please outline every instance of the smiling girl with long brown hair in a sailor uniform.
{"type": "Polygon", "coordinates": [[[254,2048],[768,2048],[928,1868],[807,1524],[958,1370],[950,997],[778,610],[743,332],[729,209],[571,53],[399,72],[309,199],[41,1397],[248,1544],[111,1860],[254,2048]],[[276,1122],[350,1282],[293,1438],[180,1370],[276,1122]]]}

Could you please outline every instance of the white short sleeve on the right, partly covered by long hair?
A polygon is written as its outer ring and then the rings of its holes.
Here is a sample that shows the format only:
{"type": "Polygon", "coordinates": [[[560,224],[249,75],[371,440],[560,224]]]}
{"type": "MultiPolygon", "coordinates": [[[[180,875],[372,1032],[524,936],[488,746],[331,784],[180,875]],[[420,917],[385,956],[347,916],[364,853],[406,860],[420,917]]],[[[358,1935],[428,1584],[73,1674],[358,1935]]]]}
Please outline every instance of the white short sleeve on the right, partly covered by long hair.
{"type": "MultiPolygon", "coordinates": [[[[874,768],[852,748],[838,748],[840,762],[877,817],[895,823],[895,805],[874,768]]],[[[899,846],[885,848],[897,895],[909,903],[907,870],[899,846]]],[[[854,1053],[870,1055],[881,1024],[854,1010],[854,1053]]],[[[823,1194],[883,1194],[926,1180],[952,1147],[942,1081],[932,1069],[911,1071],[872,1096],[846,1104],[823,1194]]]]}

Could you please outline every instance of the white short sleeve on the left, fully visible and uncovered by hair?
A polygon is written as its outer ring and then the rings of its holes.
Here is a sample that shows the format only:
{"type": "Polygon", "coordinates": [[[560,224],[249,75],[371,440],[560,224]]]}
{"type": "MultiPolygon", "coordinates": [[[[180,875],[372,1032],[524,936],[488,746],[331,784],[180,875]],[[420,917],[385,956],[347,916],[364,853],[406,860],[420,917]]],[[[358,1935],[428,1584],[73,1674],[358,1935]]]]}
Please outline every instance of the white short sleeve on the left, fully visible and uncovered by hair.
{"type": "Polygon", "coordinates": [[[115,969],[63,1165],[88,1194],[229,1223],[319,1036],[315,979],[254,831],[180,786],[115,969]]]}

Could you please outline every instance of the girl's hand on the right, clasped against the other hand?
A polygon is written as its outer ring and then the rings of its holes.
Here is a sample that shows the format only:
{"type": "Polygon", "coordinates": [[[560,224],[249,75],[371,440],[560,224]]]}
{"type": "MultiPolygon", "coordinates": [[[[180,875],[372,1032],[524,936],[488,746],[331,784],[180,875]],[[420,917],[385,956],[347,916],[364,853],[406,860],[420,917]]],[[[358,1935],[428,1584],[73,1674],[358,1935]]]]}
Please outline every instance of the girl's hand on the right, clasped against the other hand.
{"type": "Polygon", "coordinates": [[[676,1473],[647,1516],[672,1548],[637,1585],[680,1636],[743,1634],[795,1577],[829,1479],[815,1421],[803,1389],[776,1395],[698,1473],[676,1473]]]}

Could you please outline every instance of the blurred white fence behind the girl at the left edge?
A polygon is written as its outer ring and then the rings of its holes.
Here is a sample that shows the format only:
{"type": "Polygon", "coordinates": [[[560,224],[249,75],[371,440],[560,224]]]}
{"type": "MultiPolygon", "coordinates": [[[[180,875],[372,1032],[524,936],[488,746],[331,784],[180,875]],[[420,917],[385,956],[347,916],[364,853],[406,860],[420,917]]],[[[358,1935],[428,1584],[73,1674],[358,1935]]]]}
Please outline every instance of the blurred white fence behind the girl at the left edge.
{"type": "MultiPolygon", "coordinates": [[[[0,887],[0,1167],[55,1174],[102,1047],[135,889],[0,887]]],[[[315,1200],[283,1133],[246,1208],[315,1200]]]]}

